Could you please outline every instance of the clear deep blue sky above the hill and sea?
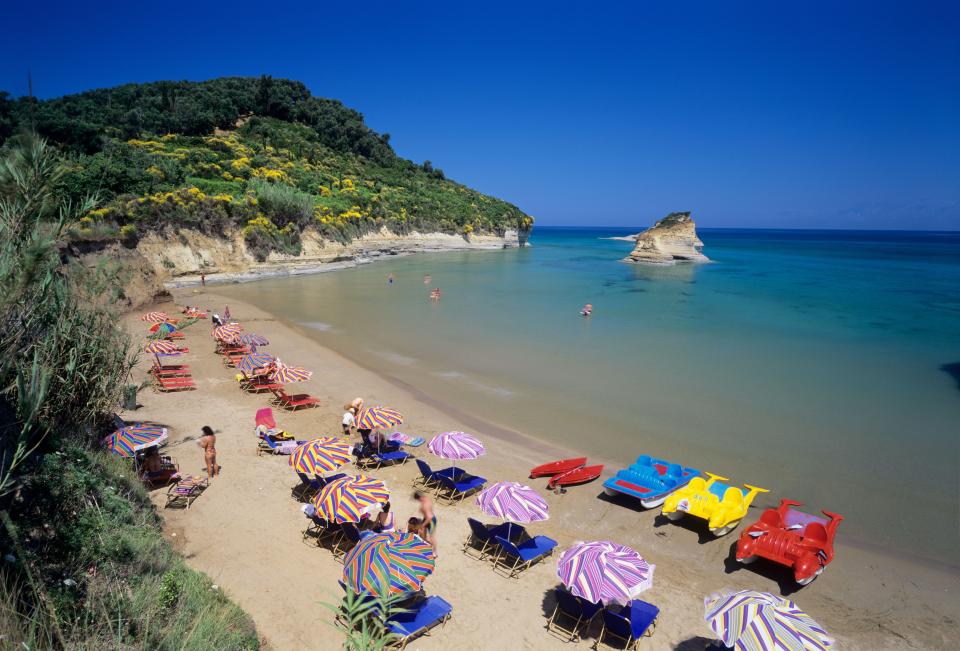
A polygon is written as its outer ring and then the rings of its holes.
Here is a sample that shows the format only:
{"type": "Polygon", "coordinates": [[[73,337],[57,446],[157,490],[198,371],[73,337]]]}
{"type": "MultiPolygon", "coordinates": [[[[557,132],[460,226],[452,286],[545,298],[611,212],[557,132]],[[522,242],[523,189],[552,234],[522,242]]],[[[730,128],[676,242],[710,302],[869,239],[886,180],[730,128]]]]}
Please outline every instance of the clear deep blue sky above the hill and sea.
{"type": "Polygon", "coordinates": [[[299,79],[540,224],[960,229],[956,2],[307,4],[8,5],[0,89],[299,79]]]}

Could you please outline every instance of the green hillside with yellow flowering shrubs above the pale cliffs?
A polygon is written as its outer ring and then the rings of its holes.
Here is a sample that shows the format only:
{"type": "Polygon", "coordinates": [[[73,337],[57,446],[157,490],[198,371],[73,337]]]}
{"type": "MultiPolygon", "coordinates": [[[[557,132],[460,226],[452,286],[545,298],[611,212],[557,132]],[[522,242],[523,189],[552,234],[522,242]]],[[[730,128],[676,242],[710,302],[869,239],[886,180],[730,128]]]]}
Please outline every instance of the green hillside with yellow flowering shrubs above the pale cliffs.
{"type": "Polygon", "coordinates": [[[397,156],[389,134],[295,81],[161,81],[47,101],[0,94],[0,140],[31,127],[63,152],[60,191],[98,197],[70,229],[75,239],[241,228],[264,257],[298,253],[307,228],[345,242],[384,226],[469,235],[533,224],[429,162],[397,156]]]}

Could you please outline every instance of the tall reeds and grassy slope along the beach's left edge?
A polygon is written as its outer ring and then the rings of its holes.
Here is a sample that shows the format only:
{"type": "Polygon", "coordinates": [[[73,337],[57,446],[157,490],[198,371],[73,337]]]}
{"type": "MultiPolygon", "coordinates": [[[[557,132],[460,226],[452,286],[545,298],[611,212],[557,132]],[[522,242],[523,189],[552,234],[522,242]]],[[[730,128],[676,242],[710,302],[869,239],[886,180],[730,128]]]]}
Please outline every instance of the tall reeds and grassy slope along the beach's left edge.
{"type": "Polygon", "coordinates": [[[56,202],[58,174],[42,141],[0,160],[0,648],[257,648],[164,540],[130,465],[94,449],[135,358],[122,270],[61,259],[80,213],[56,202]]]}

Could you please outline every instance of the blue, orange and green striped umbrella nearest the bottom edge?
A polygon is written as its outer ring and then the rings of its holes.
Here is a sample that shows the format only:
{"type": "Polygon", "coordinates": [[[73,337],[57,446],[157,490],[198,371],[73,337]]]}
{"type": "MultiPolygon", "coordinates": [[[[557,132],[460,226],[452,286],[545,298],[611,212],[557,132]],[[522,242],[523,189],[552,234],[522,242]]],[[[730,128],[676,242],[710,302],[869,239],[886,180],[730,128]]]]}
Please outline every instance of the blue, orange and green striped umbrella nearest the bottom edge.
{"type": "Polygon", "coordinates": [[[343,559],[343,582],[354,592],[416,592],[433,573],[433,547],[412,533],[367,536],[343,559]]]}

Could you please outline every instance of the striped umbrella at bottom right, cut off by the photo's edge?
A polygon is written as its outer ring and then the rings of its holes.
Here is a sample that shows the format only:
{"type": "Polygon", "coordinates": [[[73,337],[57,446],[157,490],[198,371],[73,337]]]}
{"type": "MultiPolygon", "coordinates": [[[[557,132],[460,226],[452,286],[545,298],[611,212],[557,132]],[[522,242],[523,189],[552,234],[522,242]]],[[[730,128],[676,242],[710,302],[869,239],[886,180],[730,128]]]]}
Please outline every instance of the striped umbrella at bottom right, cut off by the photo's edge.
{"type": "Polygon", "coordinates": [[[768,592],[739,590],[704,599],[704,618],[738,651],[825,651],[833,638],[795,603],[768,592]]]}

